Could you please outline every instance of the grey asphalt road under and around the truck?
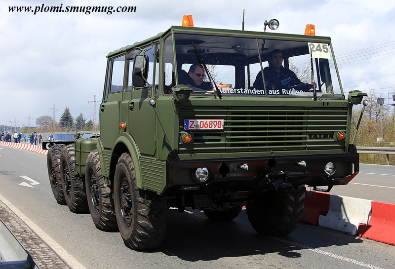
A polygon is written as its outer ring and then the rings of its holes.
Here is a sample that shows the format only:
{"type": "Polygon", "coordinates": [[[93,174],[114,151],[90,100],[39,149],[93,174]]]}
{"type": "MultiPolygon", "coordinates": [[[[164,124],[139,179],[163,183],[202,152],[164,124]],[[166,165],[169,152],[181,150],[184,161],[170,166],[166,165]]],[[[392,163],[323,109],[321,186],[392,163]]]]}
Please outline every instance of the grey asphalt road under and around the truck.
{"type": "MultiPolygon", "coordinates": [[[[395,189],[384,188],[395,187],[394,167],[361,165],[360,171],[352,181],[357,184],[334,187],[331,193],[395,203],[395,189]]],[[[74,214],[57,204],[46,156],[24,150],[0,149],[0,195],[44,238],[36,244],[51,245],[74,268],[395,269],[395,246],[303,223],[287,236],[266,237],[253,230],[244,210],[234,221],[221,223],[198,210],[169,209],[163,243],[152,251],[133,251],[118,232],[97,230],[89,214],[74,214]]],[[[15,218],[13,214],[0,202],[1,219],[15,218]]],[[[14,229],[25,229],[23,225],[14,229]]],[[[30,232],[26,237],[35,238],[30,232]]],[[[22,234],[26,233],[25,229],[22,234]]]]}

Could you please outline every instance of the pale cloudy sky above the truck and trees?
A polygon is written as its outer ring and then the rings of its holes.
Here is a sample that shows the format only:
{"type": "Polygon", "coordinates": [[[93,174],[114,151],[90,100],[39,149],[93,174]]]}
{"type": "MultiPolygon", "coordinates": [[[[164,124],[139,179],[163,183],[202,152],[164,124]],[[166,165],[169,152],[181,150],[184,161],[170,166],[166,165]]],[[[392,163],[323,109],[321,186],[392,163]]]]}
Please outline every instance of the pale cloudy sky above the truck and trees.
{"type": "Polygon", "coordinates": [[[332,39],[344,91],[375,89],[394,104],[393,0],[1,0],[0,126],[36,126],[38,117],[54,112],[59,121],[66,108],[74,118],[90,119],[99,112],[109,52],[181,25],[187,14],[195,27],[241,30],[243,9],[248,31],[263,31],[273,18],[276,32],[286,34],[304,34],[306,24],[314,24],[317,36],[332,39]],[[136,11],[10,12],[14,6],[136,11]]]}

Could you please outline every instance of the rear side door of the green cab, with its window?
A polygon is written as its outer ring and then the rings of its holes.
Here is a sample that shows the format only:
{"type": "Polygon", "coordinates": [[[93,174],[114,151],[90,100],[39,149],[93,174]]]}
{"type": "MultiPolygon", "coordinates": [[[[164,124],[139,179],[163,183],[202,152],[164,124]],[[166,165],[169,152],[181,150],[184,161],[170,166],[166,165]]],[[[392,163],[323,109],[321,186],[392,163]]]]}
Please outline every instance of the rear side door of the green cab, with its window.
{"type": "Polygon", "coordinates": [[[125,55],[110,58],[107,67],[103,102],[100,104],[100,137],[103,148],[110,154],[118,137],[119,103],[122,100],[125,55]]]}

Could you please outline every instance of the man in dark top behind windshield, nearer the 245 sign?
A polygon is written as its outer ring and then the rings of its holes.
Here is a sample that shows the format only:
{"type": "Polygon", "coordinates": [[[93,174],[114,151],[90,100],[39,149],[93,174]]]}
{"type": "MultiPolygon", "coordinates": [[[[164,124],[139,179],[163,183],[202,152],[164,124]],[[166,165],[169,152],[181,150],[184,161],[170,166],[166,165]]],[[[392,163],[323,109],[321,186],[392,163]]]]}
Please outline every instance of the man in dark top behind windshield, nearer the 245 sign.
{"type": "MultiPolygon", "coordinates": [[[[265,84],[269,94],[271,93],[270,90],[277,90],[274,91],[275,94],[282,94],[280,89],[286,89],[294,85],[304,84],[298,77],[296,77],[295,73],[282,66],[282,60],[281,50],[274,49],[269,55],[269,66],[263,69],[265,84]]],[[[299,86],[297,89],[308,91],[315,86],[316,83],[312,82],[306,86],[299,86]]],[[[253,87],[256,89],[264,89],[262,72],[259,72],[256,76],[253,87]]]]}

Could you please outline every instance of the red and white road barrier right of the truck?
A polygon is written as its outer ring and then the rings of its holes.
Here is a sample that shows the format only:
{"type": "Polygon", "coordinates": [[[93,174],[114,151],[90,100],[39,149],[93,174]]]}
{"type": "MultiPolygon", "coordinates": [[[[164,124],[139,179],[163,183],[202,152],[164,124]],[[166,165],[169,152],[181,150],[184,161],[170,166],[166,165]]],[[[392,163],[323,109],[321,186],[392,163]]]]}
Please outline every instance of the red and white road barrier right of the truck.
{"type": "Polygon", "coordinates": [[[395,204],[306,191],[301,222],[395,245],[395,204]]]}

